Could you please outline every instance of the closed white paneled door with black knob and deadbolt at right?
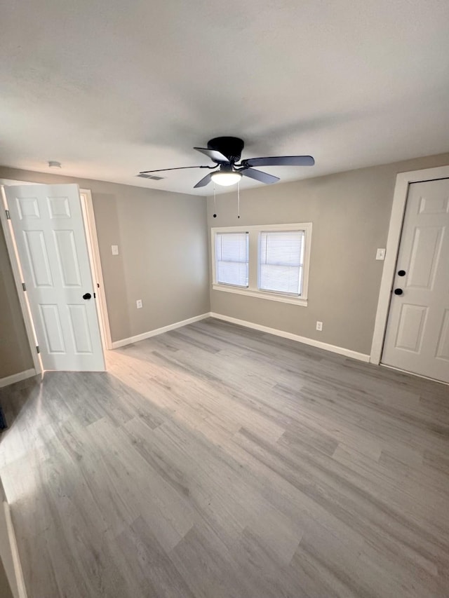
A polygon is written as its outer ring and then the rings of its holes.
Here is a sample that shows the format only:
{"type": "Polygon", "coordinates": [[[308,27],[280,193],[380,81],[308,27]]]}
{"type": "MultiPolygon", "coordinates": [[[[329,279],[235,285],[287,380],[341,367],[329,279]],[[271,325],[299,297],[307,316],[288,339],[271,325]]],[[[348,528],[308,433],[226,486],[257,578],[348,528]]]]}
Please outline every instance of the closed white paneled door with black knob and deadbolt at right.
{"type": "Polygon", "coordinates": [[[449,382],[449,179],[409,186],[382,363],[449,382]]]}

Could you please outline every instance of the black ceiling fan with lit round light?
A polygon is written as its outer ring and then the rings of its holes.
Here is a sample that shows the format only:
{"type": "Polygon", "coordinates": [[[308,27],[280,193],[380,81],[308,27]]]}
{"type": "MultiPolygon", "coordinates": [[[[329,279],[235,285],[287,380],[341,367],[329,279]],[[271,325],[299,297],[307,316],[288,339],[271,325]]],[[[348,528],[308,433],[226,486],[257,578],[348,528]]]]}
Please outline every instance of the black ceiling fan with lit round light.
{"type": "Polygon", "coordinates": [[[215,137],[208,141],[208,147],[194,147],[215,162],[213,166],[160,168],[159,170],[144,170],[139,174],[147,175],[152,172],[185,170],[187,168],[209,168],[214,172],[209,172],[206,177],[197,182],[194,189],[206,186],[210,181],[223,186],[234,185],[240,181],[242,176],[269,185],[278,182],[279,177],[256,170],[253,166],[313,166],[315,163],[311,156],[272,156],[271,158],[248,158],[240,161],[244,145],[243,140],[239,137],[215,137]]]}

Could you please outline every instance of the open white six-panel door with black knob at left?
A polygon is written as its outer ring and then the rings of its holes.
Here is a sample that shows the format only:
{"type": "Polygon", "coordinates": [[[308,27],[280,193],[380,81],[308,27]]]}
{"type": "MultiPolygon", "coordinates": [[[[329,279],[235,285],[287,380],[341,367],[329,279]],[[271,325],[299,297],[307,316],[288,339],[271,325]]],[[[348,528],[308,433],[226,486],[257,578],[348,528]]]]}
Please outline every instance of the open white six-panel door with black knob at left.
{"type": "Polygon", "coordinates": [[[43,369],[104,371],[78,186],[5,191],[43,369]]]}

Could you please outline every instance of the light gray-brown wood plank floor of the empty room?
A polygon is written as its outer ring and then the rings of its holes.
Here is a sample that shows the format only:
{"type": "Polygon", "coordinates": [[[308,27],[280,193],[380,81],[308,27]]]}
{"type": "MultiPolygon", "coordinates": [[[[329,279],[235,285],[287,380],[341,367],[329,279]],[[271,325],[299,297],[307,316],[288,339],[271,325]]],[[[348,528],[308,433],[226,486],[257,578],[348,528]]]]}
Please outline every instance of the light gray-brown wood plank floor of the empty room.
{"type": "Polygon", "coordinates": [[[449,387],[203,320],[1,390],[29,598],[449,596],[449,387]]]}

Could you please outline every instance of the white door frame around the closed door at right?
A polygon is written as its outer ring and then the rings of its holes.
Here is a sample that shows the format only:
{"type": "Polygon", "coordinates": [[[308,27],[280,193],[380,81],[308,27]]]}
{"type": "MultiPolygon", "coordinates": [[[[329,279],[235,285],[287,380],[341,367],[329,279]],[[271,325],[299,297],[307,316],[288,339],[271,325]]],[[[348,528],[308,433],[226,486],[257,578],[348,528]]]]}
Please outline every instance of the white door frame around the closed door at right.
{"type": "Polygon", "coordinates": [[[385,332],[387,331],[391,290],[393,288],[396,272],[396,261],[398,259],[399,246],[401,244],[401,233],[408,197],[408,186],[410,183],[434,181],[436,179],[449,179],[449,165],[438,166],[437,168],[424,168],[422,170],[411,170],[410,172],[399,172],[396,176],[394,186],[393,205],[391,206],[391,217],[387,237],[387,250],[385,253],[384,269],[380,282],[379,300],[373,333],[373,344],[371,345],[370,362],[379,365],[382,360],[385,332]]]}

